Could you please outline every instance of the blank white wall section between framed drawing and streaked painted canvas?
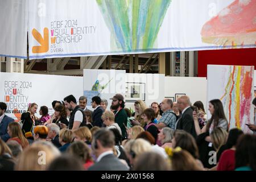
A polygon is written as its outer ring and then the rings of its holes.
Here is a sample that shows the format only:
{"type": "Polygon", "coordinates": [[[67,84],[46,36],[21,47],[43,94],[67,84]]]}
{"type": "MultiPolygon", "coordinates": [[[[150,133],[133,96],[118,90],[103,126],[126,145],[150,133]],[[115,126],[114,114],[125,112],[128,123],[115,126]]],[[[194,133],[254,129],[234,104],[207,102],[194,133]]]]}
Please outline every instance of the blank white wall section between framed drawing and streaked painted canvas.
{"type": "Polygon", "coordinates": [[[174,98],[185,94],[194,104],[196,101],[202,101],[204,109],[207,105],[207,79],[205,77],[170,77],[164,78],[164,96],[174,98]]]}

